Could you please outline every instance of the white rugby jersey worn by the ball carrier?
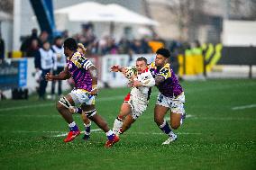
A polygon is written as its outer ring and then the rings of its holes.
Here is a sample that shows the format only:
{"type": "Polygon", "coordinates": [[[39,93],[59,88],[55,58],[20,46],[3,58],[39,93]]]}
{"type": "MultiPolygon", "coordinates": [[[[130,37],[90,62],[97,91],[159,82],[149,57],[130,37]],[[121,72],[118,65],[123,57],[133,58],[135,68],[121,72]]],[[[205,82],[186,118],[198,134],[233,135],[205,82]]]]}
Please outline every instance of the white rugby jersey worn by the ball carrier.
{"type": "Polygon", "coordinates": [[[155,79],[151,75],[150,69],[147,68],[142,74],[137,74],[137,79],[143,86],[133,87],[130,94],[132,94],[135,99],[148,102],[151,95],[151,87],[155,85],[155,79]]]}

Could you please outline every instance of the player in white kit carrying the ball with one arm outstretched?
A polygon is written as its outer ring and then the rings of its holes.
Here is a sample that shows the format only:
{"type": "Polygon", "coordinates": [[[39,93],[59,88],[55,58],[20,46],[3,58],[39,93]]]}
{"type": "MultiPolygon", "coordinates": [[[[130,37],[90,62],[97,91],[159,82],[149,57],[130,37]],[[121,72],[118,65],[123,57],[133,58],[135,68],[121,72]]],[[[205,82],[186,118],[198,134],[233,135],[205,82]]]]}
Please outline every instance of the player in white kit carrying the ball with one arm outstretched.
{"type": "Polygon", "coordinates": [[[147,67],[146,58],[137,58],[136,67],[111,67],[114,72],[123,72],[123,75],[130,79],[133,86],[131,92],[124,98],[120,112],[114,120],[113,131],[115,134],[122,134],[128,130],[134,121],[146,110],[151,95],[151,87],[155,80],[147,67]]]}

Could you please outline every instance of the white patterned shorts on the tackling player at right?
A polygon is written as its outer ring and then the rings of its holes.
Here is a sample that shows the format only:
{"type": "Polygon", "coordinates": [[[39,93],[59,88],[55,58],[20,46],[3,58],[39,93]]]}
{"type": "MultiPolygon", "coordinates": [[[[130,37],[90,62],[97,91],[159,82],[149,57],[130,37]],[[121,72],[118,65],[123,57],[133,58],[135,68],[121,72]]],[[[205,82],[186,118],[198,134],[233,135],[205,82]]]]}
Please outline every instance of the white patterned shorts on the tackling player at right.
{"type": "Polygon", "coordinates": [[[164,107],[168,107],[171,112],[184,114],[185,113],[184,103],[185,103],[184,93],[179,94],[178,97],[167,97],[159,93],[156,104],[164,107]]]}

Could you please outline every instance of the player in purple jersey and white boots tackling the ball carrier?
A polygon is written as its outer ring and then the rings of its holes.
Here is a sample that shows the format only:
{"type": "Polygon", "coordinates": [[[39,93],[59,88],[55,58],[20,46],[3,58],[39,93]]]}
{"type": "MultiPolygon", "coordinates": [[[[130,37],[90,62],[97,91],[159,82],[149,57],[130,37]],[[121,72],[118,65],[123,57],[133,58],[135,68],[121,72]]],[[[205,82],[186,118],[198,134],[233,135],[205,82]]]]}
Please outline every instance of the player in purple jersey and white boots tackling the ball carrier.
{"type": "Polygon", "coordinates": [[[185,95],[178,78],[173,73],[169,64],[169,50],[158,49],[155,61],[149,65],[151,73],[155,78],[155,84],[159,89],[157,102],[154,109],[154,121],[160,130],[169,135],[169,139],[163,142],[163,145],[177,139],[170,127],[177,130],[185,118],[185,95]],[[165,114],[170,110],[170,127],[165,114]]]}

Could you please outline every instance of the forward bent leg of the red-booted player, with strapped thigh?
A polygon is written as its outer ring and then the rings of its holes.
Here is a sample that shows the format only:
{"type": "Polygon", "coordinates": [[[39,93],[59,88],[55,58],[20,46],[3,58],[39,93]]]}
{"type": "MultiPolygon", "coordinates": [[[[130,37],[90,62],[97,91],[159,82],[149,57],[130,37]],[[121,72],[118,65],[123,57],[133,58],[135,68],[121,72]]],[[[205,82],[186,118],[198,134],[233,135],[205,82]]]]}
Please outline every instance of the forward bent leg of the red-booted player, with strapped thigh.
{"type": "Polygon", "coordinates": [[[75,139],[79,134],[80,130],[78,130],[78,126],[76,122],[73,119],[72,113],[69,111],[69,107],[74,105],[74,101],[70,94],[63,96],[59,99],[56,107],[61,116],[65,119],[65,121],[69,124],[69,135],[66,139],[64,139],[65,142],[69,142],[73,139],[75,139]]]}

